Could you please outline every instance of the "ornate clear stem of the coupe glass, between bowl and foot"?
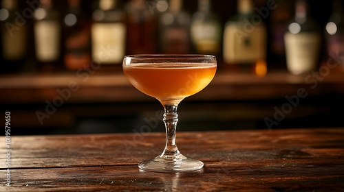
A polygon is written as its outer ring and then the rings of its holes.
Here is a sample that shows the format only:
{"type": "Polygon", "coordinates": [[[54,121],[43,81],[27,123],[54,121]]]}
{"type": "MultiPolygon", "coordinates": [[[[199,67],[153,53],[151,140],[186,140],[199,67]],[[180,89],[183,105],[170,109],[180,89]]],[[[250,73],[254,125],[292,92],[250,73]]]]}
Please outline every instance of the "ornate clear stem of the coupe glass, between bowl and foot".
{"type": "Polygon", "coordinates": [[[175,130],[177,128],[178,105],[164,105],[164,118],[162,119],[166,127],[166,146],[164,152],[160,155],[166,160],[175,158],[180,155],[177,145],[175,144],[175,130]]]}

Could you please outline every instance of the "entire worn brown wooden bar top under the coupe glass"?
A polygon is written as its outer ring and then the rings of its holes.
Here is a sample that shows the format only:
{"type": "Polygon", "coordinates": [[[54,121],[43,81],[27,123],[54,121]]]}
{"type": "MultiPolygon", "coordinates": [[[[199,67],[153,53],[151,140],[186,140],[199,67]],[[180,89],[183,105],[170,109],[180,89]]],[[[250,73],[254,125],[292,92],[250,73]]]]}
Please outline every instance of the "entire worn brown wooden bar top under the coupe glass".
{"type": "Polygon", "coordinates": [[[162,152],[162,132],[0,143],[0,191],[344,191],[344,128],[177,132],[182,154],[204,168],[173,173],[138,169],[162,152]]]}

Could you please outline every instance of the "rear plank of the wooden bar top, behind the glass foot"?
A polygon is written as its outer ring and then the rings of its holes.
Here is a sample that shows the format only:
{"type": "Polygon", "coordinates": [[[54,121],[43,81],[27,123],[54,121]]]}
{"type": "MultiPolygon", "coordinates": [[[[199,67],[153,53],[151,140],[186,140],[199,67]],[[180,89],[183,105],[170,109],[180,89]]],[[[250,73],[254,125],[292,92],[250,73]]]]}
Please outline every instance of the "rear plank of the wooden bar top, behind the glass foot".
{"type": "MultiPolygon", "coordinates": [[[[73,136],[12,136],[12,167],[89,167],[136,165],[162,152],[161,132],[73,136]]],[[[4,138],[0,143],[5,143],[4,138]]],[[[205,162],[339,158],[344,156],[344,130],[255,130],[178,132],[181,152],[205,162]],[[334,153],[335,152],[335,153],[334,153]]],[[[5,151],[4,145],[0,150],[5,151]]],[[[5,159],[1,156],[0,159],[5,159]]],[[[5,169],[4,165],[0,165],[5,169]]]]}

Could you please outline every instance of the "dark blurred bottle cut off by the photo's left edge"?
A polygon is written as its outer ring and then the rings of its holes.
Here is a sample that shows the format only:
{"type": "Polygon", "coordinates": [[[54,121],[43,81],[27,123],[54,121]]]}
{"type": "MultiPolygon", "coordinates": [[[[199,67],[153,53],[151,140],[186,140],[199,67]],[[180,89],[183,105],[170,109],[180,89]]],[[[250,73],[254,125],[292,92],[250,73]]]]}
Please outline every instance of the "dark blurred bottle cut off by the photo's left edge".
{"type": "Polygon", "coordinates": [[[20,71],[28,56],[28,25],[17,25],[17,11],[17,0],[1,1],[1,73],[20,71]]]}

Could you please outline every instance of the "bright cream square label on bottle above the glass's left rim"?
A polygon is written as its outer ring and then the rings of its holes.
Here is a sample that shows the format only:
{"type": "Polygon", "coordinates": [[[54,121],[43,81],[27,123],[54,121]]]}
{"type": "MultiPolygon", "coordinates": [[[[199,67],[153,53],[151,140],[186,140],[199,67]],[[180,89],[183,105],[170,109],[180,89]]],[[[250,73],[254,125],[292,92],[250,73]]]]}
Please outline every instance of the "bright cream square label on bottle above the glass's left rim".
{"type": "Polygon", "coordinates": [[[92,59],[101,64],[120,64],[125,56],[126,27],[123,23],[92,25],[92,59]]]}

